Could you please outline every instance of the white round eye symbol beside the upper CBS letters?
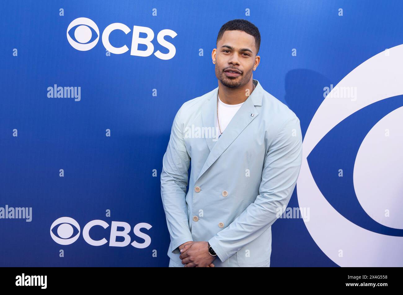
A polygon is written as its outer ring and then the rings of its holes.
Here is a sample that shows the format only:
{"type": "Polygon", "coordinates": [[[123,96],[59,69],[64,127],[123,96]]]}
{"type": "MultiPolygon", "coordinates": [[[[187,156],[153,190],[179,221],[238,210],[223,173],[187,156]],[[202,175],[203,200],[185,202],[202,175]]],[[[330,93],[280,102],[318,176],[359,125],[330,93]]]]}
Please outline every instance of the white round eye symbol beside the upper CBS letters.
{"type": "Polygon", "coordinates": [[[86,18],[86,17],[76,18],[75,20],[73,20],[70,23],[69,27],[67,27],[67,40],[69,41],[70,45],[73,46],[77,50],[87,51],[87,50],[93,48],[95,45],[97,45],[99,39],[100,39],[100,30],[98,29],[98,26],[96,25],[96,23],[94,23],[89,18],[86,18]],[[74,37],[80,43],[74,41],[69,35],[69,31],[71,30],[71,28],[73,28],[77,25],[78,25],[78,27],[74,31],[74,37]],[[94,41],[92,41],[91,43],[87,43],[89,40],[91,40],[91,37],[92,37],[92,32],[89,27],[94,29],[94,31],[96,31],[96,33],[98,35],[97,38],[94,41]],[[82,43],[85,43],[85,44],[82,44],[82,43]]]}

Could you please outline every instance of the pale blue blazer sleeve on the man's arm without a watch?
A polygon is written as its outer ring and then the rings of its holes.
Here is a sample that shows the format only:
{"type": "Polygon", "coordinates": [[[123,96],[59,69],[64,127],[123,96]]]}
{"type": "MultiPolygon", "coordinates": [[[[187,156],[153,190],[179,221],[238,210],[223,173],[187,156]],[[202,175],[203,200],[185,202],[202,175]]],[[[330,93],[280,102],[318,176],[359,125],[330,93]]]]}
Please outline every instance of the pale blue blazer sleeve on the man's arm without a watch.
{"type": "Polygon", "coordinates": [[[181,109],[175,115],[171,135],[162,160],[161,198],[172,242],[172,253],[178,246],[193,241],[185,202],[190,156],[187,153],[181,123],[181,109]]]}

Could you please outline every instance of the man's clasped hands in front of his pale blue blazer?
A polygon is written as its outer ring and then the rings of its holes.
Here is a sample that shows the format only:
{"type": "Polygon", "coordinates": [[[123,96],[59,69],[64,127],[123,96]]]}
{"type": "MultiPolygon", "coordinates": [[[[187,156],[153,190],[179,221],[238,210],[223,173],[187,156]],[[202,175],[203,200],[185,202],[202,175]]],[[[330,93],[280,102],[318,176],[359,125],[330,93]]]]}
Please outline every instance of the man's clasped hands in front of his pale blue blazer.
{"type": "Polygon", "coordinates": [[[182,249],[179,248],[182,252],[179,258],[182,264],[186,264],[185,267],[214,267],[212,262],[216,257],[208,252],[207,241],[187,243],[182,249]]]}

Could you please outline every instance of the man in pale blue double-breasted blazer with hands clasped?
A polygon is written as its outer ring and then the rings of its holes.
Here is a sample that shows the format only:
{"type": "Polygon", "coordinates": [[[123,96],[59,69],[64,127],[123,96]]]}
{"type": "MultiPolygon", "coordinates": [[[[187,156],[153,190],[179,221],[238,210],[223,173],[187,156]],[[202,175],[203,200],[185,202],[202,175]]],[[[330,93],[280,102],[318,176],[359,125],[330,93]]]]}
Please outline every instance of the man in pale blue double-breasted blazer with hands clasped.
{"type": "Polygon", "coordinates": [[[249,21],[224,24],[212,51],[218,87],[174,118],[161,173],[169,266],[270,266],[271,225],[295,188],[302,136],[295,113],[252,77],[259,47],[249,21]]]}

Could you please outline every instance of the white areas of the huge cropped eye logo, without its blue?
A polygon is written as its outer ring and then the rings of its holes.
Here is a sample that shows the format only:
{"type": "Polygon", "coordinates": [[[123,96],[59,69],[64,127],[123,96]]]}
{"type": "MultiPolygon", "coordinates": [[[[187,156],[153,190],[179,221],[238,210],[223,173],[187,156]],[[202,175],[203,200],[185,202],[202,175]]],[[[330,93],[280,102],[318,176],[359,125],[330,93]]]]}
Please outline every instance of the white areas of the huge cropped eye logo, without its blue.
{"type": "MultiPolygon", "coordinates": [[[[403,109],[385,116],[364,141],[357,142],[359,151],[354,159],[353,175],[343,175],[344,179],[352,177],[354,180],[354,194],[347,193],[346,197],[357,198],[372,219],[393,227],[389,232],[382,234],[363,228],[332,207],[318,187],[319,180],[314,179],[314,168],[310,167],[308,156],[322,138],[352,114],[380,100],[402,95],[402,64],[403,45],[398,45],[389,49],[389,55],[382,51],[357,66],[335,86],[339,89],[357,87],[356,99],[334,98],[332,90],[316,111],[303,139],[303,159],[297,181],[298,203],[302,208],[310,208],[310,220],[304,220],[310,235],[326,256],[339,266],[403,266],[402,217],[399,214],[403,208],[402,184],[401,177],[397,178],[401,176],[403,162],[403,131],[400,128],[403,109]],[[385,128],[391,129],[390,137],[384,137],[385,128]],[[391,211],[388,219],[382,218],[385,209],[391,211]]],[[[343,152],[352,153],[350,150],[343,152]]],[[[334,170],[337,178],[337,170],[334,170]]]]}

